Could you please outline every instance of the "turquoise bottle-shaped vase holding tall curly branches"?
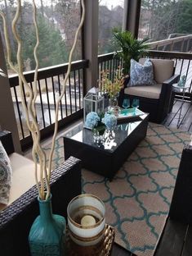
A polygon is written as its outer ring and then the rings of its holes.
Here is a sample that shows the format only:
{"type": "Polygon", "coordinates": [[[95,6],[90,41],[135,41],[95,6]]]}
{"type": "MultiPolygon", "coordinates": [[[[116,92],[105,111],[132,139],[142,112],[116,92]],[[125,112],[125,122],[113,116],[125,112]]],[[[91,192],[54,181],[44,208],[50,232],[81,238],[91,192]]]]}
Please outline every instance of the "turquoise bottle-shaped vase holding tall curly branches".
{"type": "Polygon", "coordinates": [[[31,256],[65,255],[65,217],[52,214],[51,197],[38,198],[40,215],[34,220],[29,232],[31,256]]]}

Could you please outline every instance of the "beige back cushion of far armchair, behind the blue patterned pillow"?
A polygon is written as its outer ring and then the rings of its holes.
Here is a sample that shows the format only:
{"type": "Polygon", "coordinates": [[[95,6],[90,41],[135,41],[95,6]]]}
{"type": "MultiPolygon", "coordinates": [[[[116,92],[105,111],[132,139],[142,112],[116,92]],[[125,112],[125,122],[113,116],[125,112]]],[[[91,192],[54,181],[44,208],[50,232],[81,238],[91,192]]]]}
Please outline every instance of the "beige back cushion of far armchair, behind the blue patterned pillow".
{"type": "MultiPolygon", "coordinates": [[[[174,61],[172,60],[161,60],[161,59],[150,59],[154,67],[154,80],[158,84],[163,84],[163,82],[170,77],[172,77],[174,61]]],[[[140,63],[143,65],[145,63],[145,58],[140,59],[140,63]]]]}

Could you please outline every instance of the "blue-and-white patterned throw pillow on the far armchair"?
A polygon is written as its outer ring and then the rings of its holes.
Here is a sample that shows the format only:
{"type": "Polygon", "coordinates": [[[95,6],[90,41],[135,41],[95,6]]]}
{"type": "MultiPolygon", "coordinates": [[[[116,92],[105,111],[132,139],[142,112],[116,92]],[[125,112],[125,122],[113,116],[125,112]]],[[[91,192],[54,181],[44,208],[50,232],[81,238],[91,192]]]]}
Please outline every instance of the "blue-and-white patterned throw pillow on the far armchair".
{"type": "Polygon", "coordinates": [[[130,68],[130,83],[128,86],[134,85],[154,85],[154,71],[153,71],[153,63],[149,58],[145,60],[144,65],[136,62],[135,60],[131,60],[131,68],[130,68]]]}

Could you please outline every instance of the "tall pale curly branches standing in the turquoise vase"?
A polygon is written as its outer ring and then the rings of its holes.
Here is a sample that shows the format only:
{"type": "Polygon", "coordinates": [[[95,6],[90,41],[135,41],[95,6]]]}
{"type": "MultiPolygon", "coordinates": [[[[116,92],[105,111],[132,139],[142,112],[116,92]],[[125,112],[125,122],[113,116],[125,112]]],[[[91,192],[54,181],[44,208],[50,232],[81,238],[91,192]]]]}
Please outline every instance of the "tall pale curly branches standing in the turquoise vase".
{"type": "Polygon", "coordinates": [[[53,135],[53,139],[52,139],[52,144],[51,144],[51,153],[49,155],[49,162],[48,162],[48,170],[46,167],[46,153],[42,150],[42,147],[40,145],[40,132],[39,132],[39,127],[38,127],[38,123],[36,121],[36,110],[35,110],[35,100],[37,98],[38,95],[38,89],[37,89],[37,81],[38,81],[38,56],[37,56],[37,50],[38,50],[38,44],[39,44],[39,36],[38,36],[38,24],[37,24],[37,7],[35,5],[35,2],[33,0],[33,24],[35,27],[35,32],[36,32],[36,45],[33,49],[33,56],[36,62],[36,67],[35,67],[35,72],[34,72],[34,92],[32,91],[32,89],[30,88],[30,86],[28,85],[27,81],[25,80],[25,76],[23,75],[23,61],[22,61],[22,42],[20,39],[20,36],[17,34],[17,30],[16,30],[16,24],[17,21],[19,19],[20,16],[20,9],[21,9],[21,4],[20,4],[20,0],[17,0],[17,8],[16,8],[16,15],[12,21],[12,32],[14,34],[14,37],[16,39],[18,48],[17,48],[17,62],[18,62],[18,70],[16,69],[16,67],[12,64],[11,62],[11,47],[10,47],[10,40],[9,40],[9,36],[8,36],[8,30],[7,30],[7,21],[6,21],[6,17],[4,15],[4,13],[2,11],[0,11],[0,16],[2,16],[2,21],[3,21],[3,30],[4,30],[4,34],[5,34],[5,41],[6,41],[6,47],[7,47],[7,62],[9,64],[9,66],[11,67],[11,69],[13,71],[15,71],[18,76],[19,76],[19,85],[20,85],[20,94],[21,94],[21,103],[22,106],[24,108],[25,111],[25,115],[26,115],[26,121],[27,121],[27,126],[32,134],[32,138],[33,138],[33,149],[32,149],[32,155],[33,155],[33,161],[35,164],[35,181],[38,187],[38,194],[39,197],[41,199],[45,199],[45,191],[44,191],[44,181],[43,181],[43,174],[44,174],[44,178],[45,178],[45,184],[46,184],[46,190],[47,190],[47,194],[46,194],[46,199],[50,196],[50,176],[51,176],[51,162],[52,162],[52,156],[53,156],[53,151],[55,148],[55,144],[56,144],[56,133],[58,130],[58,112],[59,112],[59,103],[60,100],[63,98],[64,94],[65,94],[65,85],[66,85],[66,81],[69,78],[69,74],[70,74],[70,69],[71,69],[71,62],[72,62],[72,55],[74,53],[74,48],[77,44],[77,40],[78,40],[78,34],[79,31],[81,30],[82,26],[83,26],[83,21],[85,18],[85,6],[84,6],[84,0],[81,1],[82,2],[82,7],[83,7],[83,14],[81,17],[81,21],[80,24],[78,25],[78,30],[75,33],[75,37],[74,37],[74,44],[71,48],[71,51],[69,53],[69,66],[68,66],[68,70],[67,73],[65,75],[65,80],[64,80],[64,86],[62,89],[62,92],[60,94],[60,97],[57,99],[56,101],[56,122],[55,122],[55,130],[54,130],[54,135],[53,135]],[[29,103],[28,103],[28,107],[25,104],[25,97],[24,97],[24,88],[29,90],[29,103]],[[32,121],[30,121],[30,118],[32,121]],[[38,182],[38,162],[37,162],[37,157],[39,159],[39,163],[40,163],[40,184],[38,182]]]}

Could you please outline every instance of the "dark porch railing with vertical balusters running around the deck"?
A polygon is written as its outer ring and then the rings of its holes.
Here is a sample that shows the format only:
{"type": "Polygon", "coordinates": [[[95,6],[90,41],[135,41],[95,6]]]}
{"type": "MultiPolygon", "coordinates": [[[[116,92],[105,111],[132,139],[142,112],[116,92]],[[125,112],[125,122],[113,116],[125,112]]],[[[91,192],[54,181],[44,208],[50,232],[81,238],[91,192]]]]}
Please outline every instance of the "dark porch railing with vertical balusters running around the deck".
{"type": "MultiPolygon", "coordinates": [[[[186,75],[186,83],[190,85],[190,90],[185,99],[192,99],[192,54],[149,51],[149,56],[153,58],[167,58],[175,60],[175,74],[186,75]]],[[[85,91],[84,71],[88,66],[88,61],[73,62],[69,80],[65,89],[65,96],[60,103],[59,127],[65,126],[78,117],[83,116],[83,96],[85,91]]],[[[98,56],[98,77],[100,71],[109,71],[109,78],[114,79],[114,71],[118,66],[122,66],[122,60],[108,53],[98,56]]],[[[56,98],[60,95],[63,80],[68,64],[51,66],[38,71],[38,98],[36,102],[37,121],[40,126],[41,138],[45,138],[52,132],[55,124],[56,98]]],[[[34,71],[25,72],[25,79],[33,90],[34,71]]],[[[9,78],[11,94],[16,112],[16,120],[20,133],[22,149],[32,144],[32,137],[26,126],[25,114],[21,105],[19,80],[17,75],[9,78]]],[[[28,101],[29,92],[25,91],[25,103],[28,101]]],[[[180,97],[176,93],[176,97],[180,97]]]]}

